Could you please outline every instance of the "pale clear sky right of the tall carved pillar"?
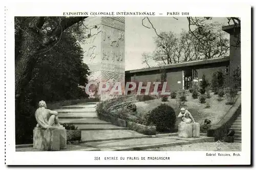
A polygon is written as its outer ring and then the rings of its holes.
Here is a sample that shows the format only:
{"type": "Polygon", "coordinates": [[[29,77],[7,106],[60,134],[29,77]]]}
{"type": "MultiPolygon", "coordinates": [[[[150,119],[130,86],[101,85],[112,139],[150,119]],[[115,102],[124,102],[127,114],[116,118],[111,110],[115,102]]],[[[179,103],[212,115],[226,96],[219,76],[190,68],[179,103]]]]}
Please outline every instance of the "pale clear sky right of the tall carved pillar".
{"type": "MultiPolygon", "coordinates": [[[[154,29],[147,29],[142,26],[144,17],[125,17],[125,70],[144,68],[142,64],[142,53],[152,54],[156,49],[153,37],[156,36],[154,29]]],[[[153,23],[157,33],[172,31],[180,34],[182,29],[188,31],[186,17],[148,17],[153,23]]],[[[226,26],[226,17],[214,17],[210,22],[219,22],[226,26]]],[[[145,19],[144,25],[151,28],[150,23],[145,19]]]]}

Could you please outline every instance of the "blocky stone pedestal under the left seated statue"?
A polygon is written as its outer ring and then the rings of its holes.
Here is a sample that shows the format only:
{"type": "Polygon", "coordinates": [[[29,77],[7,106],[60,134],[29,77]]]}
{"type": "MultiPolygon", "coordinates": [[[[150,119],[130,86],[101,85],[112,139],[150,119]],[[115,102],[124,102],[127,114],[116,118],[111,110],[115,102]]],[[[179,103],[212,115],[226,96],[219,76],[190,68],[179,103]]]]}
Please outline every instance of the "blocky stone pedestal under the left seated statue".
{"type": "Polygon", "coordinates": [[[67,130],[64,127],[59,129],[34,128],[33,148],[42,151],[59,151],[67,148],[67,130]]]}

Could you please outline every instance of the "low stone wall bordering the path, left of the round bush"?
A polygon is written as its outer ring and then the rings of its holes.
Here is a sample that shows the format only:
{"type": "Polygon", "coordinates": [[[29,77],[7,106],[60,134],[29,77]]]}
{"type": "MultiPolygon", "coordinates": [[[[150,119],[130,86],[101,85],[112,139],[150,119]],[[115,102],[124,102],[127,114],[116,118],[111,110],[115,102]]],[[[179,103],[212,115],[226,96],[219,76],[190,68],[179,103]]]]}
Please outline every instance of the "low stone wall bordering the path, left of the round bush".
{"type": "Polygon", "coordinates": [[[99,114],[98,118],[100,120],[104,120],[106,122],[111,122],[113,125],[120,126],[120,127],[127,127],[133,131],[145,134],[145,135],[155,135],[156,134],[156,127],[155,126],[145,126],[136,124],[130,121],[126,121],[117,117],[113,117],[110,115],[99,114]]]}

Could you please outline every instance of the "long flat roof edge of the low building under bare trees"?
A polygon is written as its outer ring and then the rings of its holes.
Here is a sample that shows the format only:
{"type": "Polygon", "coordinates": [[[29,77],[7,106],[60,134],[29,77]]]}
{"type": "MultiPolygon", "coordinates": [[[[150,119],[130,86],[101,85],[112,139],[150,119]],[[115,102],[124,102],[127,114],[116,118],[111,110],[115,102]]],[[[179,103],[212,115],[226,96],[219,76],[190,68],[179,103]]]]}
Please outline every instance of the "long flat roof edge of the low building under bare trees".
{"type": "MultiPolygon", "coordinates": [[[[196,61],[189,61],[189,62],[176,63],[176,64],[166,64],[161,67],[165,69],[169,69],[169,68],[187,67],[187,66],[210,64],[210,63],[219,63],[219,62],[225,62],[225,61],[229,61],[229,57],[220,57],[220,58],[213,58],[213,59],[207,59],[207,60],[196,60],[196,61]]],[[[154,71],[159,69],[160,67],[142,68],[142,69],[126,70],[125,73],[131,74],[135,72],[154,71]]]]}

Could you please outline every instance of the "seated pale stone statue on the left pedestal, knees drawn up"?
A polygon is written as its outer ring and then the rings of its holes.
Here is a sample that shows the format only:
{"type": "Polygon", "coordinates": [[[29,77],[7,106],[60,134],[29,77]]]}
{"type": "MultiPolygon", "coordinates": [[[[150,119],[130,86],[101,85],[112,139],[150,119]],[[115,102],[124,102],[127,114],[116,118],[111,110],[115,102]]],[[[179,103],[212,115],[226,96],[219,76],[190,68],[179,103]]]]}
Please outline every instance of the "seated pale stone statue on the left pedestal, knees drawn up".
{"type": "Polygon", "coordinates": [[[40,101],[39,108],[35,111],[36,127],[41,129],[58,129],[63,126],[59,124],[58,112],[47,109],[46,102],[40,101]]]}

